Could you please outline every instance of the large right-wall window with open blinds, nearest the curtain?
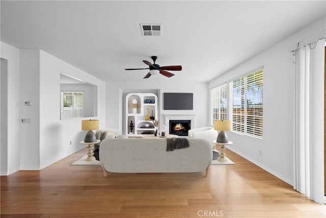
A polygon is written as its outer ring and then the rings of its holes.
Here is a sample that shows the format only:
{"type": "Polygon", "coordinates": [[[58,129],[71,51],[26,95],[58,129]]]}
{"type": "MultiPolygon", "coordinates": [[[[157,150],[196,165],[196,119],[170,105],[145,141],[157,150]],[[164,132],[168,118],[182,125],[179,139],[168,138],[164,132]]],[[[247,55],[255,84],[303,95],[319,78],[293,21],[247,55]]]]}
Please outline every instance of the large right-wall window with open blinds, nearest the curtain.
{"type": "Polygon", "coordinates": [[[232,129],[263,137],[263,70],[232,82],[232,129]]]}

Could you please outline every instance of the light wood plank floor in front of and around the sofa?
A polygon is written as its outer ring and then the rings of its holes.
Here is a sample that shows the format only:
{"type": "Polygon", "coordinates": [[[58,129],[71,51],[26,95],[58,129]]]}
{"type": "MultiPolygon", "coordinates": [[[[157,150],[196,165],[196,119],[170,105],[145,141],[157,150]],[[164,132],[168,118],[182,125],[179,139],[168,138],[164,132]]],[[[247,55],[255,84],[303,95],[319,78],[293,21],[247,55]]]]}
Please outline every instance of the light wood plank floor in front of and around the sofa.
{"type": "Polygon", "coordinates": [[[235,165],[205,173],[118,174],[71,166],[1,177],[1,217],[325,217],[292,186],[227,150],[235,165]]]}

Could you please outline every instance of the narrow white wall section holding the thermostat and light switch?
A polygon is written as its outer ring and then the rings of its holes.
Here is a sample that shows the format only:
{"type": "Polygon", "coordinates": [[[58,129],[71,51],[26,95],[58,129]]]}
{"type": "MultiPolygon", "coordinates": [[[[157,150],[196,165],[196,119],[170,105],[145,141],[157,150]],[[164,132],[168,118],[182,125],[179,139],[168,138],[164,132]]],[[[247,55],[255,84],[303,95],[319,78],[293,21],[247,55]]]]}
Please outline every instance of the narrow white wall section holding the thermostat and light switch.
{"type": "Polygon", "coordinates": [[[40,51],[20,50],[20,118],[31,123],[21,123],[20,169],[39,169],[40,165],[40,51]],[[32,106],[25,106],[32,101],[32,106]]]}

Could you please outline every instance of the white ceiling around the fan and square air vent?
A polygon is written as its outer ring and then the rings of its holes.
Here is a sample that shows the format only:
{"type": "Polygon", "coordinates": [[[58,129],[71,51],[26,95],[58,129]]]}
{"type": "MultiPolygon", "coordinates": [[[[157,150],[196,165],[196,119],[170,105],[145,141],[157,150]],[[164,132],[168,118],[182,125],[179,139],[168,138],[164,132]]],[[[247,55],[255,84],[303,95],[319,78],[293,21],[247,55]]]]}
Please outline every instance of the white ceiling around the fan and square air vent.
{"type": "Polygon", "coordinates": [[[323,16],[325,1],[1,1],[1,41],[107,82],[209,82],[323,16]],[[144,37],[141,23],[162,36],[144,37]],[[182,71],[124,70],[153,55],[182,71]]]}

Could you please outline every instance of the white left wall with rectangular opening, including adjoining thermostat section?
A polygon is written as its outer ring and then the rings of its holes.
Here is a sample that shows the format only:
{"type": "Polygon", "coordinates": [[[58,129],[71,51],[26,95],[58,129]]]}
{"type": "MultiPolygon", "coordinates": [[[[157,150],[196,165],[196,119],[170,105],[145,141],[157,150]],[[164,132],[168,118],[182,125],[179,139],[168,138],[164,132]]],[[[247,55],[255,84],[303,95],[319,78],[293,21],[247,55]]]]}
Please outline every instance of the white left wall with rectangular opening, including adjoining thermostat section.
{"type": "Polygon", "coordinates": [[[20,115],[31,118],[31,124],[21,124],[20,169],[42,169],[85,148],[79,143],[86,134],[81,130],[85,118],[60,120],[61,72],[97,86],[98,116],[88,118],[103,120],[104,127],[103,81],[43,51],[21,50],[20,115]]]}

